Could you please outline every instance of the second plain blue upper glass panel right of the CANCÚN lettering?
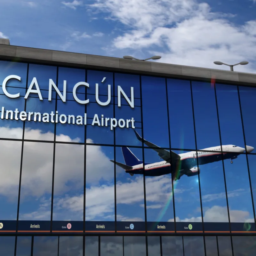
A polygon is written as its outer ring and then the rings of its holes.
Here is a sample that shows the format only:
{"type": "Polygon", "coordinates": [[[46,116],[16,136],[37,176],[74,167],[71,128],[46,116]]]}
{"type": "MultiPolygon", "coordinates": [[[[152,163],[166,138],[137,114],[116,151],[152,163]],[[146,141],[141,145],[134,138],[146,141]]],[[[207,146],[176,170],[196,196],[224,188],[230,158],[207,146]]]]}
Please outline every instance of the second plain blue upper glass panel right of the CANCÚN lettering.
{"type": "Polygon", "coordinates": [[[171,146],[172,148],[195,149],[190,81],[167,79],[167,92],[171,146]]]}

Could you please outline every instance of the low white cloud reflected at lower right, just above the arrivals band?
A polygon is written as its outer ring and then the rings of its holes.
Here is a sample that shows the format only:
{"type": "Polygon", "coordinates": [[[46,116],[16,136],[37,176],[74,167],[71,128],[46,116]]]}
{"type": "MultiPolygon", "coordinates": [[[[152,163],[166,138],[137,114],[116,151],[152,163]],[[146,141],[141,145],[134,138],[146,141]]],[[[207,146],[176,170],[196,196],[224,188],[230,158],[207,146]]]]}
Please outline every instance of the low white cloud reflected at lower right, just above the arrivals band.
{"type": "MultiPolygon", "coordinates": [[[[250,213],[241,210],[229,209],[230,222],[254,222],[254,219],[250,218],[250,213]]],[[[168,221],[174,221],[170,219],[168,221]]],[[[202,217],[191,217],[180,219],[176,217],[178,222],[201,222],[202,217]]],[[[228,222],[228,211],[227,207],[214,205],[204,212],[204,222],[228,222]]]]}

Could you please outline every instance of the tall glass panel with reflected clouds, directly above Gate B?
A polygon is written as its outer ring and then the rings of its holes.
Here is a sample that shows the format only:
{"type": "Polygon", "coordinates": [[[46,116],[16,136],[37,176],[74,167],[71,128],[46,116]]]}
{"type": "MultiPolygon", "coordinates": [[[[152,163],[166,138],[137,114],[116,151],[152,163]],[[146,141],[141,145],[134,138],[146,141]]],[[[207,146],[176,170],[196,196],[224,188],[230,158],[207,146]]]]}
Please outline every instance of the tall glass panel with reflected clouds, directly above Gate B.
{"type": "Polygon", "coordinates": [[[53,220],[83,220],[84,145],[56,144],[53,220]]]}

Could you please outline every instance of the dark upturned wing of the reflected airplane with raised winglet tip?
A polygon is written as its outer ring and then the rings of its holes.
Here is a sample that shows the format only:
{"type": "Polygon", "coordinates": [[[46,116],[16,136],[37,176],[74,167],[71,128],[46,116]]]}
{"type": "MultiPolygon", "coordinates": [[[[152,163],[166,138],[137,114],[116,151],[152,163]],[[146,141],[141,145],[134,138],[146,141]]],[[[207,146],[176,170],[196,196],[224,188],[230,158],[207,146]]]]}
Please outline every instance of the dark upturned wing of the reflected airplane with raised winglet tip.
{"type": "Polygon", "coordinates": [[[160,158],[162,158],[164,161],[166,161],[167,163],[171,162],[172,159],[172,163],[176,163],[177,160],[180,160],[180,156],[178,154],[176,154],[175,152],[171,151],[169,152],[168,150],[165,150],[163,148],[160,148],[158,146],[156,146],[155,144],[144,140],[140,137],[140,135],[138,134],[138,132],[134,131],[136,134],[136,137],[138,140],[140,140],[141,142],[144,142],[144,144],[146,144],[148,147],[152,148],[153,150],[155,150],[158,153],[158,156],[160,156],[160,158]]]}

